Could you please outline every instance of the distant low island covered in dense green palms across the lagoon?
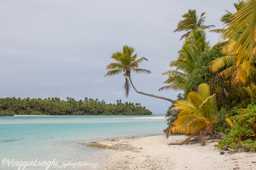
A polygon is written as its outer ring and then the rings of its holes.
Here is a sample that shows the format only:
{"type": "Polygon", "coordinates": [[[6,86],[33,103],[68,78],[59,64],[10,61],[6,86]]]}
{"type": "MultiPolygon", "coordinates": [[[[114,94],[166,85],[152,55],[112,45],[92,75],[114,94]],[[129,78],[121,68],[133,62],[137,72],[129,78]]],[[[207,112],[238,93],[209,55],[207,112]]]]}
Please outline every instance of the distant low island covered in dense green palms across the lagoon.
{"type": "Polygon", "coordinates": [[[88,99],[76,101],[74,98],[67,97],[65,100],[60,98],[41,99],[35,98],[0,99],[0,116],[13,115],[152,115],[152,112],[142,107],[140,103],[122,103],[116,100],[116,104],[106,104],[104,100],[88,99]]]}

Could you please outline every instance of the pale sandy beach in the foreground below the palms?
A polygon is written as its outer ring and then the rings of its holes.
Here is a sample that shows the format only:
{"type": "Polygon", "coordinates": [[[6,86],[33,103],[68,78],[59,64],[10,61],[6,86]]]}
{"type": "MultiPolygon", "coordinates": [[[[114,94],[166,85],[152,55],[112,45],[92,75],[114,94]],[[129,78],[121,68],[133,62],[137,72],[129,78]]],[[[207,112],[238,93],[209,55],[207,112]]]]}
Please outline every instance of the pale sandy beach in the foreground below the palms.
{"type": "Polygon", "coordinates": [[[109,139],[87,143],[108,152],[103,170],[123,169],[255,169],[256,153],[220,154],[214,143],[168,145],[180,143],[186,136],[165,135],[109,139]]]}

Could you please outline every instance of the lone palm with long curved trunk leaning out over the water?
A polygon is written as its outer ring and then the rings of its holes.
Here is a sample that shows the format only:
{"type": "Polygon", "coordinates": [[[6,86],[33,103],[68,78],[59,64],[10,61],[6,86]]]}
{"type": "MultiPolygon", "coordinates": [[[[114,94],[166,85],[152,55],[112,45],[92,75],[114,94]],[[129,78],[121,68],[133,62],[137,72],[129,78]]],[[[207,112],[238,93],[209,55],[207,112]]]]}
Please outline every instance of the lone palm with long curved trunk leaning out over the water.
{"type": "MultiPolygon", "coordinates": [[[[107,72],[106,76],[114,76],[117,74],[122,74],[125,77],[125,83],[124,83],[124,92],[125,92],[125,96],[128,97],[129,92],[130,92],[130,83],[132,84],[132,79],[131,79],[131,72],[134,73],[143,73],[143,74],[150,74],[151,71],[149,70],[144,70],[144,69],[139,69],[139,63],[141,63],[142,61],[148,61],[147,58],[142,57],[140,59],[137,59],[137,53],[134,54],[134,48],[129,47],[127,45],[124,45],[123,47],[123,52],[115,52],[112,54],[111,58],[113,58],[116,63],[110,63],[107,65],[106,70],[109,70],[107,72]],[[129,79],[128,79],[129,78],[129,79]]],[[[158,99],[163,99],[163,100],[167,100],[167,101],[173,101],[171,99],[165,98],[165,97],[160,97],[160,96],[156,96],[153,94],[147,94],[147,93],[143,93],[143,92],[139,92],[134,85],[132,84],[133,89],[139,93],[139,94],[143,94],[146,96],[151,96],[151,97],[155,97],[158,99]]]]}

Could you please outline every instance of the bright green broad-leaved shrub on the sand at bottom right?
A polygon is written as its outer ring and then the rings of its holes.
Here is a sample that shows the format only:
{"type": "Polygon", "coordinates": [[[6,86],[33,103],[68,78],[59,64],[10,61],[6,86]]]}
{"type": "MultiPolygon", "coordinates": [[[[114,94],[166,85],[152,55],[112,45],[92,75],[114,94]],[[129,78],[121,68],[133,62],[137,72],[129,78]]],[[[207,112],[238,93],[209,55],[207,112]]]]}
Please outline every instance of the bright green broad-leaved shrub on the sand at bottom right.
{"type": "Polygon", "coordinates": [[[255,152],[256,105],[250,104],[244,111],[230,117],[234,122],[234,126],[230,129],[228,135],[225,136],[225,139],[218,142],[217,147],[230,147],[234,152],[238,149],[255,152]]]}

